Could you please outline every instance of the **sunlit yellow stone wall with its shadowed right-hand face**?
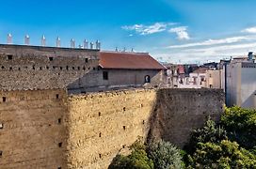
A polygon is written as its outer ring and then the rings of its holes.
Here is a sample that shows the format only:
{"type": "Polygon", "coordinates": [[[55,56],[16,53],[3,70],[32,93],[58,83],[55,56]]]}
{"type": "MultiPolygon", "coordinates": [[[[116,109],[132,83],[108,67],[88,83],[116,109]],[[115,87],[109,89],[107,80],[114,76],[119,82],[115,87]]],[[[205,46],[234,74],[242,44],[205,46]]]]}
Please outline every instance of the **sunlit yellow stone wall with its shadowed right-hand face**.
{"type": "Polygon", "coordinates": [[[184,146],[209,115],[218,120],[224,94],[218,89],[141,89],[72,96],[68,102],[68,168],[107,168],[138,136],[184,146]]]}

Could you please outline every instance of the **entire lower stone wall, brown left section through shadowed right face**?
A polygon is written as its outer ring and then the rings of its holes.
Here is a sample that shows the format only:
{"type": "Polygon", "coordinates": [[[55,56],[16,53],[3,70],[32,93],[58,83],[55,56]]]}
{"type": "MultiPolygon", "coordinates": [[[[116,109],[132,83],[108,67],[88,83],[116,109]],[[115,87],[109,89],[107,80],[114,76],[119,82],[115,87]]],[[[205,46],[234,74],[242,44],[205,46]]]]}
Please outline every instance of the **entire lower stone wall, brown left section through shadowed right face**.
{"type": "Polygon", "coordinates": [[[62,89],[0,92],[0,168],[106,168],[136,141],[184,146],[208,115],[216,89],[135,89],[68,96],[62,89]]]}

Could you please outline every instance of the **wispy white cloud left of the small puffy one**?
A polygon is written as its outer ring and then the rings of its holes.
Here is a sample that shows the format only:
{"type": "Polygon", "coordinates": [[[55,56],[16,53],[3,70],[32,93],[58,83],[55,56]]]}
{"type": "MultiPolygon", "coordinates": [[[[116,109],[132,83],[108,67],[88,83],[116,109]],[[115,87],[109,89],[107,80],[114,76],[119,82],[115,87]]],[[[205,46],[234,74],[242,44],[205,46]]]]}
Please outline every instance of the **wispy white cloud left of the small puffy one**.
{"type": "Polygon", "coordinates": [[[128,31],[136,31],[139,35],[150,35],[167,30],[168,25],[176,23],[153,23],[151,25],[134,24],[121,26],[122,29],[128,31]]]}

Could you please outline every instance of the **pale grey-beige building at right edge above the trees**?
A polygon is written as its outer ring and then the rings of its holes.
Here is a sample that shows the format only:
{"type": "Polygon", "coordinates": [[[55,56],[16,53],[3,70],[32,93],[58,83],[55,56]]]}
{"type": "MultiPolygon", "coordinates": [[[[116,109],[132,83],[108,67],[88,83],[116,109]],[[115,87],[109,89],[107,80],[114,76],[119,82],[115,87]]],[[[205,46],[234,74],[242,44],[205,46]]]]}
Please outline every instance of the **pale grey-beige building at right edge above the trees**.
{"type": "Polygon", "coordinates": [[[256,108],[256,63],[230,63],[226,71],[227,105],[256,108]]]}

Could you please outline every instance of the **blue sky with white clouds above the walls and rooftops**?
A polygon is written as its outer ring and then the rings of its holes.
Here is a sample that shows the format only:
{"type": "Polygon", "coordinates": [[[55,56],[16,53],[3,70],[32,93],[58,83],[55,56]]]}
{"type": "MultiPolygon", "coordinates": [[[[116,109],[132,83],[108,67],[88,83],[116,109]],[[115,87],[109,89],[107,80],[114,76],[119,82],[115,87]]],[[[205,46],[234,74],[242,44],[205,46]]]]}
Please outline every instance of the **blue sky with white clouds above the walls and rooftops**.
{"type": "Polygon", "coordinates": [[[0,43],[68,47],[99,39],[173,63],[217,61],[256,52],[254,0],[9,0],[0,7],[0,43]]]}

